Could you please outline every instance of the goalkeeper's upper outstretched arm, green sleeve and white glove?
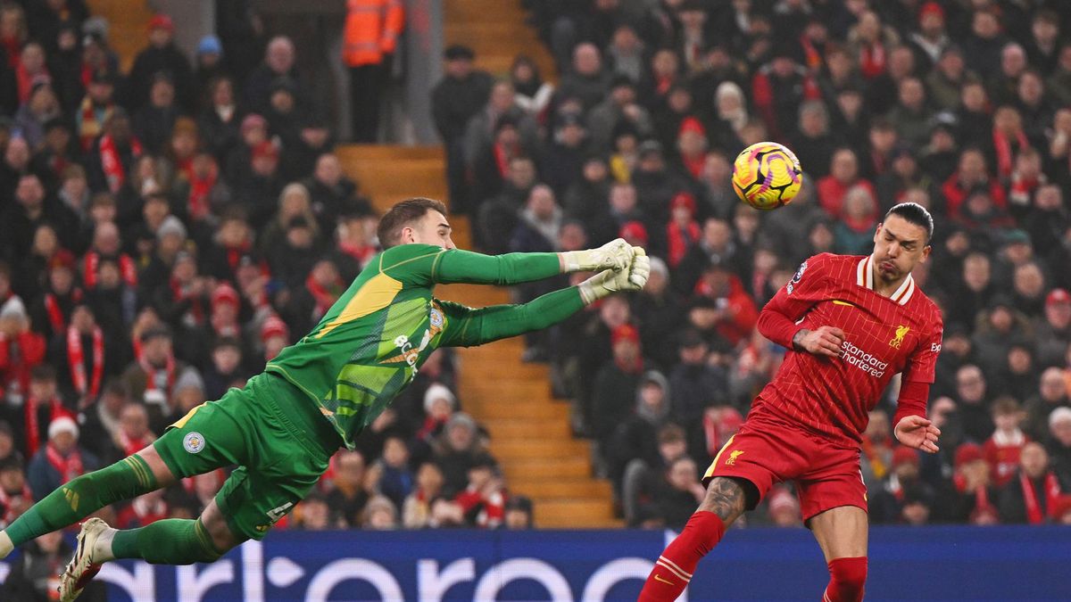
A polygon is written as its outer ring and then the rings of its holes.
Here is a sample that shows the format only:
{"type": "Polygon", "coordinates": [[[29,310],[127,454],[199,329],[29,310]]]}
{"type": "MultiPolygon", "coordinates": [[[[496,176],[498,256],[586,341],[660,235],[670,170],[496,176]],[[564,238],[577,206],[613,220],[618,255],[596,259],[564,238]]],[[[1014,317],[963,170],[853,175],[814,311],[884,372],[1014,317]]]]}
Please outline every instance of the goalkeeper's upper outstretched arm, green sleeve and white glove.
{"type": "Polygon", "coordinates": [[[627,270],[635,251],[621,239],[587,251],[565,253],[508,253],[482,255],[450,250],[432,264],[432,280],[438,284],[497,284],[539,281],[560,273],[627,270]]]}

